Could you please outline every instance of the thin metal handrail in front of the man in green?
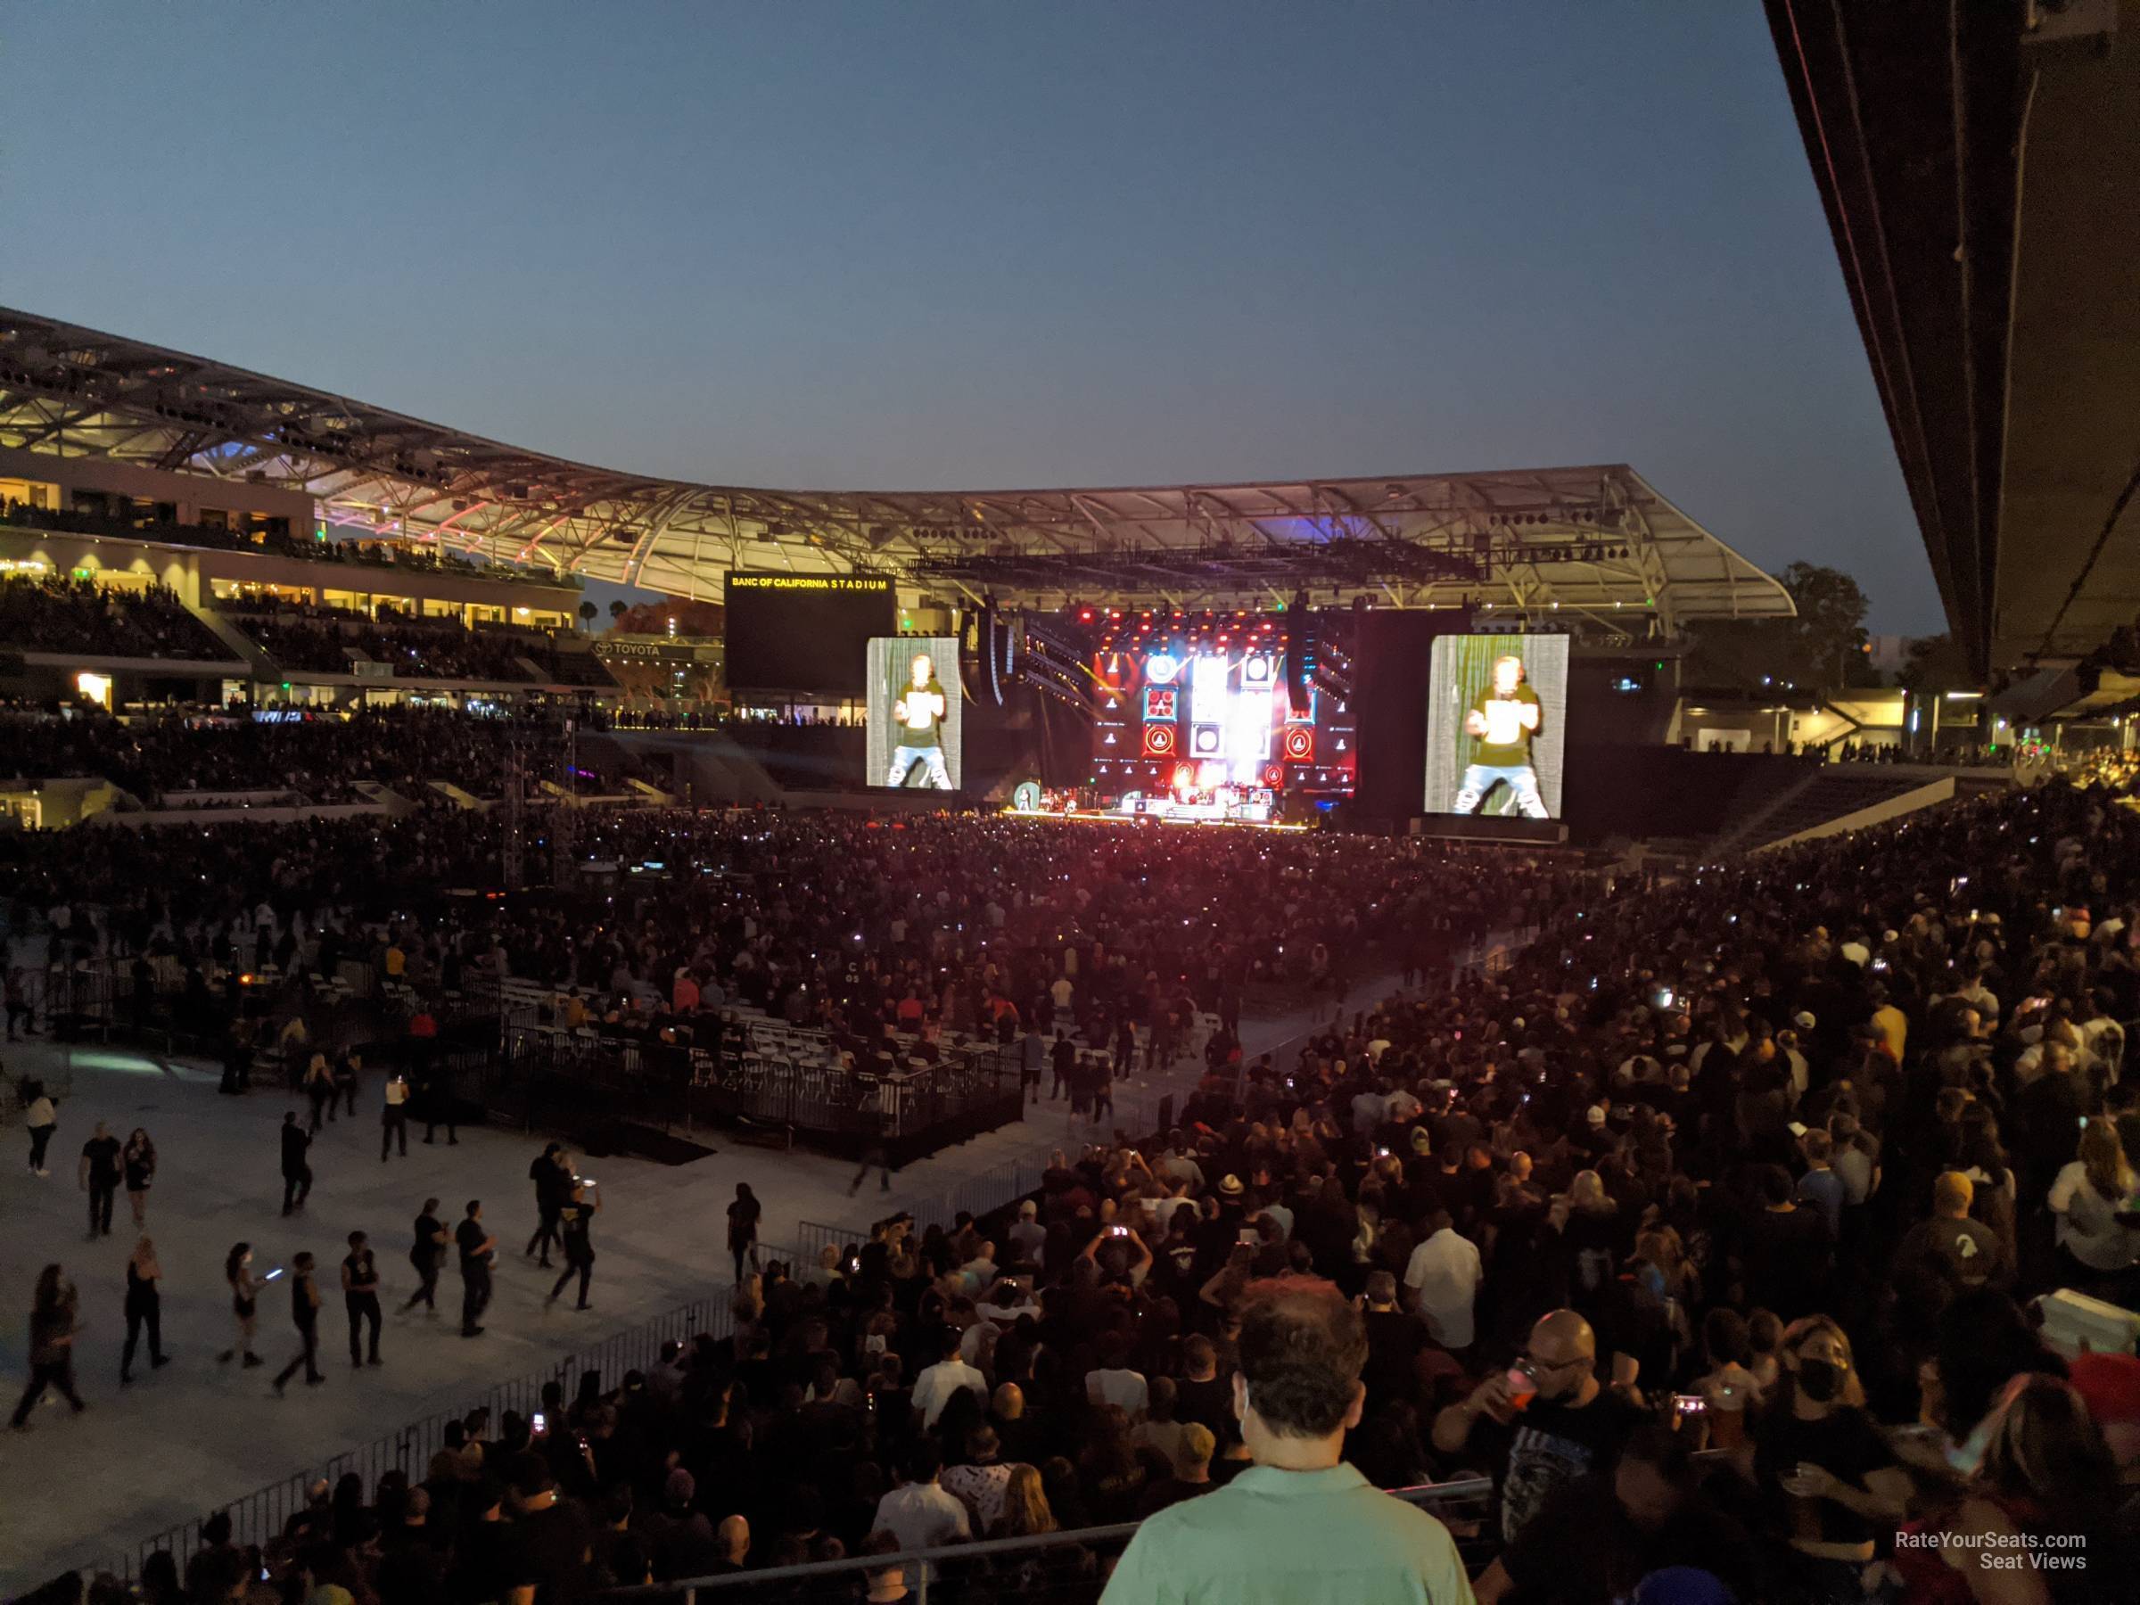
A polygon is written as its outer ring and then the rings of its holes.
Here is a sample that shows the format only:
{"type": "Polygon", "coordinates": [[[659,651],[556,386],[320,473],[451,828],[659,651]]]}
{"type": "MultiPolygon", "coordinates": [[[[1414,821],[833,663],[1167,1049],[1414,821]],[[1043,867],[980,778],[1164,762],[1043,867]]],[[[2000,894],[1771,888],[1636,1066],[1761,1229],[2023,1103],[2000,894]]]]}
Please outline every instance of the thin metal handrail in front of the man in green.
{"type": "MultiPolygon", "coordinates": [[[[1481,1571],[1492,1552],[1483,1537],[1487,1502],[1494,1483],[1487,1477],[1466,1477],[1451,1483],[1423,1483],[1391,1489],[1391,1498],[1417,1504],[1438,1515],[1457,1537],[1466,1569],[1481,1571]]],[[[954,1590],[961,1599],[1017,1596],[1055,1605],[1091,1601],[1100,1592],[1100,1560],[1113,1560],[1136,1534],[1141,1522],[1119,1522],[1102,1528],[1046,1532],[1034,1539],[984,1539],[980,1543],[901,1549],[882,1556],[850,1556],[847,1560],[813,1560],[802,1566],[768,1566],[764,1571],[687,1577],[670,1584],[614,1588],[601,1599],[646,1601],[646,1605],[700,1605],[700,1601],[777,1599],[783,1605],[841,1605],[860,1596],[871,1581],[899,1581],[905,1599],[929,1605],[929,1590],[954,1590]],[[895,1573],[897,1577],[884,1577],[895,1573]]],[[[892,1594],[899,1599],[899,1594],[892,1594]]]]}

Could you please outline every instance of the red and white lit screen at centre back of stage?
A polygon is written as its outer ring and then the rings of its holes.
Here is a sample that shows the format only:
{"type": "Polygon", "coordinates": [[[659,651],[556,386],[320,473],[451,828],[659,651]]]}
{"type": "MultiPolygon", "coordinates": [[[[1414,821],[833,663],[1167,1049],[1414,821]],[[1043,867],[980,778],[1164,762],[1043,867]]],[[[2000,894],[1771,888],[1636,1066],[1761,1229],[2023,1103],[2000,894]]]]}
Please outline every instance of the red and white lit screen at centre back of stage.
{"type": "Polygon", "coordinates": [[[1267,820],[1286,792],[1352,794],[1355,719],[1348,691],[1335,685],[1350,668],[1335,640],[1323,640],[1323,668],[1297,689],[1299,700],[1271,618],[1145,642],[1130,629],[1091,657],[1102,794],[1145,813],[1228,820],[1267,820]]]}

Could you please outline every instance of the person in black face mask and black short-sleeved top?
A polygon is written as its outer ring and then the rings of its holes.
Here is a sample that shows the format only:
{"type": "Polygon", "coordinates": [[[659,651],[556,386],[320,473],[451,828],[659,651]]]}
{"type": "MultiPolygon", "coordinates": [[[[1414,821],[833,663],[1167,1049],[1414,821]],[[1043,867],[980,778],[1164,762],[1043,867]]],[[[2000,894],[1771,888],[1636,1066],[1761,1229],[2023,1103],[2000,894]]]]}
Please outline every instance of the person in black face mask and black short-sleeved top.
{"type": "Polygon", "coordinates": [[[1763,1513],[1813,1599],[1862,1599],[1877,1539],[1902,1519],[1909,1474],[1866,1415],[1843,1327],[1804,1316],[1778,1352],[1783,1376],[1753,1432],[1763,1513]]]}

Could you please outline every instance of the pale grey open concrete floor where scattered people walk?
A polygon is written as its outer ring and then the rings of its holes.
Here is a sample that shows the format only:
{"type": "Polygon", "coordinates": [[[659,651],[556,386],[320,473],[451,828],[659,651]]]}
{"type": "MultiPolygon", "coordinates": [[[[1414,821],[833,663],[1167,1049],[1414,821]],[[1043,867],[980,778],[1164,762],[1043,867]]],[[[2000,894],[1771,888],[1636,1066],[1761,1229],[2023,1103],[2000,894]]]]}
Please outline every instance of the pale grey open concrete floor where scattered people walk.
{"type": "MultiPolygon", "coordinates": [[[[1355,989],[1365,1006],[1385,987],[1355,989]]],[[[1290,1044],[1310,1027],[1305,1014],[1250,1021],[1250,1055],[1290,1044]]],[[[462,1408],[471,1385],[539,1372],[612,1331],[636,1327],[730,1282],[723,1252],[725,1207],[736,1181],[749,1181],[764,1205],[762,1237],[792,1243],[796,1220],[865,1226],[897,1207],[933,1201],[965,1177],[1004,1160],[1046,1160],[1049,1149],[1076,1141],[1064,1104],[1031,1109],[1025,1121],[961,1143],[847,1196],[852,1171],[805,1151],[768,1153],[721,1147],[689,1166],[610,1158],[588,1162],[601,1179],[603,1211],[595,1226],[593,1310],[576,1312],[569,1297],[544,1308],[550,1273],[520,1250],[535,1228],[526,1179],[539,1136],[464,1130],[458,1147],[441,1134],[407,1158],[379,1162],[379,1085],[368,1079],[360,1117],[327,1126],[312,1147],[315,1188],[302,1216],[280,1216],[276,1130],[297,1100],[255,1091],[216,1094],[212,1068],[158,1061],[131,1049],[9,1044],[13,1074],[68,1079],[60,1102],[51,1177],[28,1173],[28,1138],[19,1121],[0,1128],[0,1387],[13,1408],[26,1367],[26,1318],[43,1265],[58,1260],[81,1290],[83,1331],[75,1346],[77,1387],[90,1408],[73,1417],[49,1397],[28,1432],[0,1432],[0,1592],[34,1586],[64,1566],[88,1566],[131,1549],[141,1539],[193,1522],[255,1487],[366,1442],[432,1410],[462,1408]],[[88,1241],[86,1194],[75,1181],[81,1145],[98,1119],[122,1141],[146,1126],[156,1141],[158,1171],[146,1230],[163,1263],[163,1335],[173,1363],[150,1370],[135,1361],[135,1382],[120,1389],[124,1342],[124,1265],[135,1228],[122,1194],[111,1237],[88,1241]],[[460,1280],[452,1265],[439,1284],[439,1316],[398,1314],[415,1278],[409,1269],[409,1224],[426,1196],[443,1198],[452,1226],[469,1198],[486,1201],[499,1237],[496,1297],[486,1333],[458,1335],[460,1280]],[[364,1230],[379,1252],[387,1310],[381,1350],[385,1365],[351,1372],[347,1323],[338,1299],[338,1265],[347,1235],[364,1230]],[[261,1299],[257,1348],[268,1367],[218,1365],[231,1342],[223,1258],[233,1241],[250,1241],[255,1267],[289,1265],[310,1250],[321,1267],[321,1361],[327,1382],[291,1385],[276,1397],[270,1378],[295,1352],[289,1299],[280,1286],[261,1299]]],[[[1136,1130],[1160,1096],[1177,1102],[1194,1085],[1194,1061],[1171,1076],[1117,1089],[1111,1126],[1136,1130]]]]}

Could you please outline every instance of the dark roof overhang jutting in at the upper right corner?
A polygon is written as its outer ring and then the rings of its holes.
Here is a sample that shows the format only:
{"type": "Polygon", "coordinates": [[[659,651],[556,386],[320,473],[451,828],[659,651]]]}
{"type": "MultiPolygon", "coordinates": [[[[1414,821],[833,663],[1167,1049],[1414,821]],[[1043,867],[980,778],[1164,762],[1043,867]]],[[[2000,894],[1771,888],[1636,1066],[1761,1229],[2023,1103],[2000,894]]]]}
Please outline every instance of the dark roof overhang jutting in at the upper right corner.
{"type": "Polygon", "coordinates": [[[2140,17],[1766,4],[1954,636],[2082,659],[2140,608],[2140,17]]]}

